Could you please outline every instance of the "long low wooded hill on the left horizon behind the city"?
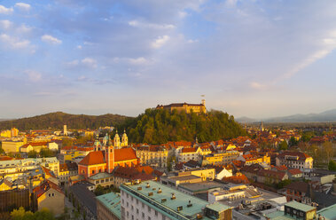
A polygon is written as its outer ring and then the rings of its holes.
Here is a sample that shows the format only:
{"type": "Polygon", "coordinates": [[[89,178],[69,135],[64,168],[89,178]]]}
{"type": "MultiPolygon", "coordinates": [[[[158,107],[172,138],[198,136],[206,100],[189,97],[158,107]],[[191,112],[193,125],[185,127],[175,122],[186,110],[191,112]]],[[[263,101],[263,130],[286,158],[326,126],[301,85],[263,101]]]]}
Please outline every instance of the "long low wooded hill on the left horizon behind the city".
{"type": "Polygon", "coordinates": [[[62,112],[42,114],[29,118],[21,118],[0,122],[0,130],[15,127],[19,130],[63,129],[66,124],[71,129],[98,129],[103,126],[116,126],[128,117],[119,114],[85,115],[66,114],[62,112]]]}

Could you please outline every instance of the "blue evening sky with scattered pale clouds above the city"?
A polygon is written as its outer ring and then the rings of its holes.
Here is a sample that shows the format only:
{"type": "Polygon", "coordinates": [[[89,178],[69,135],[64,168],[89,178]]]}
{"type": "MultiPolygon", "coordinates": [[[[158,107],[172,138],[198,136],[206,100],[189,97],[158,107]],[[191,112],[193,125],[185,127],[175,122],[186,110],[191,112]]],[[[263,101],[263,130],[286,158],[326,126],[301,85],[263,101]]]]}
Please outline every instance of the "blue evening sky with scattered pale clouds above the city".
{"type": "Polygon", "coordinates": [[[336,1],[0,0],[0,118],[336,108],[336,1]]]}

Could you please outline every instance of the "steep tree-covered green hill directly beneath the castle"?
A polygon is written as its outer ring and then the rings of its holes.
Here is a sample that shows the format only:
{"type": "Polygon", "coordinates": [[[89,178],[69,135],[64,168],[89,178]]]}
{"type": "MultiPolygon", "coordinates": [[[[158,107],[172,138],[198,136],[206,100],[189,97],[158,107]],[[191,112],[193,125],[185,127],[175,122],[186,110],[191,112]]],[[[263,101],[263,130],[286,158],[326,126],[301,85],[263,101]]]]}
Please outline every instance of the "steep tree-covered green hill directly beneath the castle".
{"type": "Polygon", "coordinates": [[[199,142],[246,135],[233,116],[212,110],[207,114],[186,114],[165,109],[146,109],[137,118],[129,118],[119,126],[127,128],[131,143],[163,144],[168,141],[199,142]]]}

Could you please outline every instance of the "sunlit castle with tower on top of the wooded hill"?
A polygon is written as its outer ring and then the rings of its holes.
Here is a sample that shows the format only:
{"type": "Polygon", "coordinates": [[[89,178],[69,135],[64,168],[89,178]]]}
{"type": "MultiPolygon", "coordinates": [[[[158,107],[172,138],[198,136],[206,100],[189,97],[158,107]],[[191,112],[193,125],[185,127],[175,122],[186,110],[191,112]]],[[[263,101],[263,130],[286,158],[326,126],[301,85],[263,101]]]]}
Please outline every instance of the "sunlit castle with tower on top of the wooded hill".
{"type": "Polygon", "coordinates": [[[167,106],[158,105],[156,106],[156,109],[168,109],[170,112],[172,112],[174,109],[177,111],[184,111],[187,114],[190,114],[191,111],[194,113],[207,113],[207,107],[206,107],[206,100],[202,99],[202,102],[200,104],[188,104],[188,103],[172,103],[167,106]]]}

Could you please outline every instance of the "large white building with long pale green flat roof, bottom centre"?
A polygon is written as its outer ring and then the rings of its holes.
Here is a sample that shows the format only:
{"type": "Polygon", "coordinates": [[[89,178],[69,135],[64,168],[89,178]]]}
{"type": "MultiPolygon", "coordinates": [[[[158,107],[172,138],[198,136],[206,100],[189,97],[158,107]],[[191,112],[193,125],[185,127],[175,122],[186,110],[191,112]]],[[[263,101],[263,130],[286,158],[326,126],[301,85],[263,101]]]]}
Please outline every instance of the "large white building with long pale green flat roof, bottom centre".
{"type": "Polygon", "coordinates": [[[121,219],[232,219],[232,210],[154,181],[121,185],[121,219]]]}

